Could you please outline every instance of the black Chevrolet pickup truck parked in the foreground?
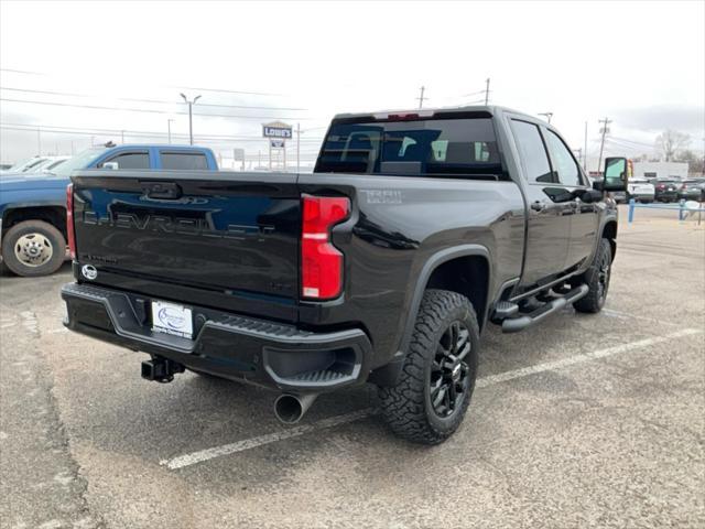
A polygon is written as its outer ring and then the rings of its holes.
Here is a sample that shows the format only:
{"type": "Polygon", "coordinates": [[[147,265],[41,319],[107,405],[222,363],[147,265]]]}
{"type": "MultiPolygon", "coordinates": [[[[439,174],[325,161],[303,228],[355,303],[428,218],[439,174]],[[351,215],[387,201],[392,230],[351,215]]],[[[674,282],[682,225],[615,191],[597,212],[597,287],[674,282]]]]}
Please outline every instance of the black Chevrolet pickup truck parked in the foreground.
{"type": "Polygon", "coordinates": [[[148,353],[150,380],[274,389],[290,423],[371,382],[395,433],[438,443],[488,324],[601,309],[627,161],[605,174],[499,107],[336,116],[313,174],[78,171],[65,324],[148,353]]]}

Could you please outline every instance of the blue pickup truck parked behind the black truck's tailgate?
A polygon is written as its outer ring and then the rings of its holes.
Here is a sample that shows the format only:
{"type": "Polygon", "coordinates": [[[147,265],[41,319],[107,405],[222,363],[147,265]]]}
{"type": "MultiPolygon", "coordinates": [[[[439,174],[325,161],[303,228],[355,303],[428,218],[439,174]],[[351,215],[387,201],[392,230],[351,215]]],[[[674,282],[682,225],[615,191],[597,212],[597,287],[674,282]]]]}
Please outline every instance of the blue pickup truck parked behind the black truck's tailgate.
{"type": "Polygon", "coordinates": [[[210,149],[191,145],[115,145],[87,149],[51,174],[0,176],[2,262],[18,276],[55,272],[66,256],[66,186],[74,170],[217,171],[210,149]]]}

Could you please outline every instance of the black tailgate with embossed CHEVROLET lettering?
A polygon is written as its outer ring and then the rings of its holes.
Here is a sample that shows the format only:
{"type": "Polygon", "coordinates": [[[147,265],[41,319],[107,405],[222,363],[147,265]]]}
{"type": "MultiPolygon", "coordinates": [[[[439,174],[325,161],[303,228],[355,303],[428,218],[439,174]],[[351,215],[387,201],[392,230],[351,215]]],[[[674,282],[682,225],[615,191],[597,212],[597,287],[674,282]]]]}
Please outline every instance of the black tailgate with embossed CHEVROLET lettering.
{"type": "Polygon", "coordinates": [[[94,283],[295,319],[295,174],[84,171],[72,181],[76,260],[96,268],[94,283]]]}

